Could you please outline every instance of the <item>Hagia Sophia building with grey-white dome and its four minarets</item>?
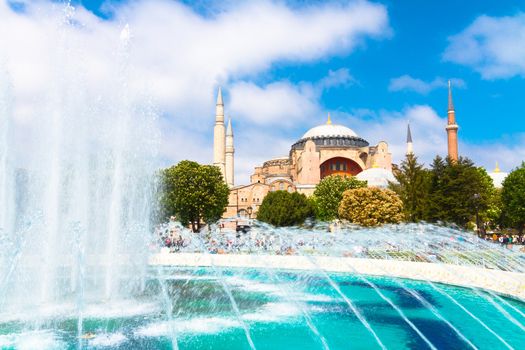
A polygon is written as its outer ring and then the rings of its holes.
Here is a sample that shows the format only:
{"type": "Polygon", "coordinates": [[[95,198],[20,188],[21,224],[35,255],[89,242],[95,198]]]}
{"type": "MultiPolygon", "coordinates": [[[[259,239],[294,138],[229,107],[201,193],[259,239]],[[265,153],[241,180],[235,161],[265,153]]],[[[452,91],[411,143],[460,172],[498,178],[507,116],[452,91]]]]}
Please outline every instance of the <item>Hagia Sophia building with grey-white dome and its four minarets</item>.
{"type": "MultiPolygon", "coordinates": [[[[448,156],[458,159],[458,125],[449,82],[448,120],[446,126],[448,156]]],[[[215,108],[213,142],[213,164],[230,187],[228,207],[223,218],[256,217],[264,197],[270,191],[313,194],[315,186],[329,175],[356,176],[366,180],[369,187],[386,187],[395,181],[392,173],[392,154],[388,143],[380,141],[376,145],[360,137],[354,130],[332,123],[330,115],[324,124],[306,131],[291,145],[285,157],[269,159],[256,166],[250,176],[250,183],[235,185],[234,182],[234,135],[231,119],[225,125],[224,103],[219,88],[215,108]]],[[[410,125],[407,128],[407,150],[413,153],[410,125]]],[[[489,175],[495,185],[501,186],[506,173],[498,167],[489,175]]]]}

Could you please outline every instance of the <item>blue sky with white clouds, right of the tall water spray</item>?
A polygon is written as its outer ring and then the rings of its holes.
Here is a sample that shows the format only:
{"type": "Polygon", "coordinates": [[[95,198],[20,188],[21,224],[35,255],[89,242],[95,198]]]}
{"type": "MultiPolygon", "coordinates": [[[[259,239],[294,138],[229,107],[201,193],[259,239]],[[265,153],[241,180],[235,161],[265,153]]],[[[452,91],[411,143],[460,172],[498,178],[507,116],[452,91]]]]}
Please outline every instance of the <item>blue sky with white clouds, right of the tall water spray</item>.
{"type": "Polygon", "coordinates": [[[523,1],[74,5],[93,33],[129,23],[138,82],[147,82],[162,116],[165,164],[211,160],[218,85],[234,121],[241,182],[328,112],[373,144],[389,142],[396,161],[410,119],[416,154],[428,163],[446,153],[447,79],[460,153],[489,169],[525,158],[523,1]]]}

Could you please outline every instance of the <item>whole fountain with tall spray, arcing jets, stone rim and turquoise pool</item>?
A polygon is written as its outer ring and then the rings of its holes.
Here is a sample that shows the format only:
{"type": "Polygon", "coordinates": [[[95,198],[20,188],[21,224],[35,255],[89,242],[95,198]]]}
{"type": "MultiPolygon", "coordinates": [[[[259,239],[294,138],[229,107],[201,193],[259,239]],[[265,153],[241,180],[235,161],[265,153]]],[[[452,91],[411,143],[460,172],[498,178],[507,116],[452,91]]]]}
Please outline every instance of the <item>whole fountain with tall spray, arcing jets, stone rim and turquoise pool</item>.
{"type": "Polygon", "coordinates": [[[154,229],[158,131],[130,98],[129,28],[113,93],[93,95],[65,13],[30,138],[0,57],[0,348],[523,347],[525,254],[471,233],[154,229]]]}

